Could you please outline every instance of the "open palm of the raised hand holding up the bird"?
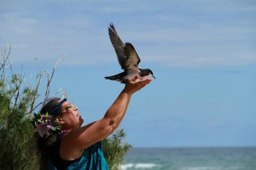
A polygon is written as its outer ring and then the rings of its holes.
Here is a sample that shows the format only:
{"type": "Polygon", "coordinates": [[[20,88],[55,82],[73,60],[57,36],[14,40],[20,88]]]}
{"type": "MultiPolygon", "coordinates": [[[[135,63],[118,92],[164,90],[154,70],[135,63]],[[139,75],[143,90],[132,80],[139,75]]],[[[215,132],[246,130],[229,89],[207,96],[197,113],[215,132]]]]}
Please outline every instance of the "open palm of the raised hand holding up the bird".
{"type": "Polygon", "coordinates": [[[142,77],[135,76],[132,80],[128,80],[127,84],[125,85],[124,91],[130,94],[135,93],[136,91],[144,88],[151,81],[151,79],[142,80],[142,77]]]}

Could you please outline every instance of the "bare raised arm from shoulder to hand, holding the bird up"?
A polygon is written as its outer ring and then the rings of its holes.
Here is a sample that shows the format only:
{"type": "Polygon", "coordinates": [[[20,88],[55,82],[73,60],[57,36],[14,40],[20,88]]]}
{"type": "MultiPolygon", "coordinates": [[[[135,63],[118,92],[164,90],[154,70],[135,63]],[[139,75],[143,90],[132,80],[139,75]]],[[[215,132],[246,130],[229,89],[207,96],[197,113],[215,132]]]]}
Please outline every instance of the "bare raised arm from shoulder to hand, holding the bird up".
{"type": "Polygon", "coordinates": [[[138,77],[135,77],[134,80],[129,80],[124,90],[121,91],[116,101],[113,102],[102,119],[75,129],[64,136],[60,148],[61,158],[74,160],[83,153],[84,149],[105,139],[111,132],[113,133],[113,129],[120,124],[124,117],[127,104],[129,104],[129,98],[133,93],[145,87],[150,82],[150,79],[139,80],[138,77]]]}

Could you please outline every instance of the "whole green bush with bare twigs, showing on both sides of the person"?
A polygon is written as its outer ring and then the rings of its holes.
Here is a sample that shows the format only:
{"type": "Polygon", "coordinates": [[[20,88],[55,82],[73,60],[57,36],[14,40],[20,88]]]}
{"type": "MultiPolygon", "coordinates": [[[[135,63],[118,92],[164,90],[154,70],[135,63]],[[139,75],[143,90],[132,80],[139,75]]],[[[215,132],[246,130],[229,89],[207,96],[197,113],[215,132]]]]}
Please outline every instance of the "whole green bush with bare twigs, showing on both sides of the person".
{"type": "MultiPolygon", "coordinates": [[[[34,125],[31,123],[34,109],[45,104],[49,96],[50,82],[56,66],[63,57],[56,62],[52,74],[41,72],[37,74],[36,87],[24,80],[24,73],[12,72],[10,50],[2,49],[0,61],[0,170],[1,169],[39,169],[39,154],[37,139],[34,136],[34,125]],[[42,77],[47,78],[44,100],[37,104],[38,88],[42,77]]],[[[124,162],[126,152],[132,147],[124,143],[124,130],[116,131],[112,137],[103,141],[105,158],[110,169],[118,170],[124,162]]]]}

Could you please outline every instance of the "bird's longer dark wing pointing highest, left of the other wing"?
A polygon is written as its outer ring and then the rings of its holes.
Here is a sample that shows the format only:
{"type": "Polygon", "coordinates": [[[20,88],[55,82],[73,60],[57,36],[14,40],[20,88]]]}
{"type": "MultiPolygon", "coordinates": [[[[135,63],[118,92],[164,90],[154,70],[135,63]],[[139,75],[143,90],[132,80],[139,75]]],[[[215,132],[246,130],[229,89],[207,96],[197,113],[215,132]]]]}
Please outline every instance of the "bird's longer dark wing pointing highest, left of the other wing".
{"type": "Polygon", "coordinates": [[[127,57],[124,54],[124,43],[118,36],[116,28],[113,26],[113,23],[110,23],[110,27],[108,27],[108,34],[110,37],[110,41],[115,48],[116,56],[121,66],[121,69],[124,69],[125,61],[127,61],[127,57]]]}

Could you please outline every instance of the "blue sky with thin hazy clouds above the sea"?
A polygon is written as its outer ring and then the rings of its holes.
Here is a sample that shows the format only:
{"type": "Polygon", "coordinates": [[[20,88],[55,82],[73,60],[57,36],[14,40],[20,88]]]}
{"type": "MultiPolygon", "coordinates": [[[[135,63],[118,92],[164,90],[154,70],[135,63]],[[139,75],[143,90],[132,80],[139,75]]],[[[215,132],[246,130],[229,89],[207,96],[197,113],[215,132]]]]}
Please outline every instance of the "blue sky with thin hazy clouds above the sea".
{"type": "Polygon", "coordinates": [[[157,80],[136,93],[121,128],[134,147],[255,146],[255,1],[1,1],[0,46],[32,77],[38,58],[89,122],[123,85],[113,22],[157,80]]]}

